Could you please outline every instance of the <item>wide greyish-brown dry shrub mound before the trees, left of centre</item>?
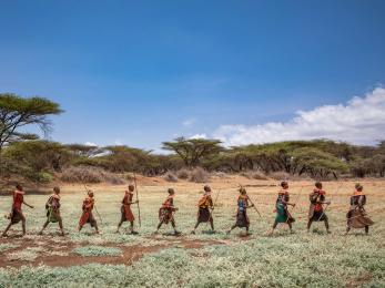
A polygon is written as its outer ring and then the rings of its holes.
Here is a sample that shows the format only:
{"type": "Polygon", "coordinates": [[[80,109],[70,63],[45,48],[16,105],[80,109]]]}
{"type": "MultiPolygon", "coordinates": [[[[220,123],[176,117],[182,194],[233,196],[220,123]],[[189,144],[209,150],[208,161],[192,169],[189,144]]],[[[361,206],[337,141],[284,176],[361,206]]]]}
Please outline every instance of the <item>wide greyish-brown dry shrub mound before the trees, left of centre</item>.
{"type": "Polygon", "coordinates": [[[71,166],[61,173],[60,179],[69,183],[125,183],[120,176],[113,173],[89,166],[71,166]]]}

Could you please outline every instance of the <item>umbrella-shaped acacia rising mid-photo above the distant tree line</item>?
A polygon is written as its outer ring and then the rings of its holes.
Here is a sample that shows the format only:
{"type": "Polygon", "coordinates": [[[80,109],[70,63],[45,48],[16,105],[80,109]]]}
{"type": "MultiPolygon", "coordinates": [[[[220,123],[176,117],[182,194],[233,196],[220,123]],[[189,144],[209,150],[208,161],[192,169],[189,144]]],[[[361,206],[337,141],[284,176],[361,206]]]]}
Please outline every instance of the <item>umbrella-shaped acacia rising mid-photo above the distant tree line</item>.
{"type": "Polygon", "coordinates": [[[164,150],[176,153],[188,167],[196,167],[202,158],[216,155],[223,150],[219,140],[179,137],[162,144],[164,150]]]}

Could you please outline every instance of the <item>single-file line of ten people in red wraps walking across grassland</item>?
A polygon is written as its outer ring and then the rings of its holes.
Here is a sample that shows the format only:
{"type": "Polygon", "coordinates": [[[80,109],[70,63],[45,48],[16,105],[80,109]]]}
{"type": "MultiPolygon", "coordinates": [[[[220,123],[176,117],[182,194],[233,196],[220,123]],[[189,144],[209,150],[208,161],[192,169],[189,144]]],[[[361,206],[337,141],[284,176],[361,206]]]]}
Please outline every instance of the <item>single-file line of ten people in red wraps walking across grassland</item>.
{"type": "MultiPolygon", "coordinates": [[[[134,186],[130,185],[129,189],[125,191],[124,197],[122,199],[121,206],[121,219],[118,224],[116,233],[119,233],[120,227],[124,222],[130,223],[130,233],[138,234],[134,230],[134,220],[135,217],[131,210],[131,205],[138,204],[138,199],[133,200],[133,192],[134,186]]],[[[212,198],[212,192],[210,186],[205,185],[203,187],[204,192],[202,197],[197,203],[197,218],[196,224],[191,232],[195,234],[196,228],[201,223],[210,223],[212,232],[214,232],[214,219],[213,219],[213,210],[215,208],[215,203],[212,198]]],[[[174,214],[178,212],[178,207],[174,205],[175,191],[173,188],[168,189],[168,197],[163,202],[162,206],[159,209],[159,225],[156,227],[156,232],[162,227],[162,225],[168,225],[171,223],[174,234],[179,235],[180,232],[176,229],[176,224],[174,219],[174,214]]],[[[82,205],[82,215],[79,220],[78,230],[81,232],[85,224],[90,224],[91,227],[95,229],[95,233],[99,233],[98,222],[93,215],[93,210],[95,208],[94,194],[92,191],[88,191],[88,196],[83,200],[82,205]]],[[[237,197],[237,210],[236,210],[236,220],[234,225],[227,230],[230,234],[234,228],[245,228],[246,234],[249,234],[250,229],[250,218],[247,216],[247,209],[254,207],[251,198],[249,197],[246,189],[244,187],[240,188],[240,195],[237,197]]],[[[331,204],[330,200],[326,200],[326,192],[323,191],[323,186],[321,182],[315,183],[315,187],[313,192],[310,194],[310,210],[308,210],[308,220],[307,220],[307,232],[312,226],[313,222],[324,222],[326,232],[330,233],[328,218],[326,216],[327,206],[331,204]]],[[[13,192],[13,203],[12,209],[7,218],[10,220],[6,230],[2,233],[2,236],[6,237],[10,227],[14,224],[21,222],[22,224],[22,234],[26,235],[26,217],[22,213],[22,205],[27,205],[30,208],[33,208],[32,205],[29,205],[24,200],[24,192],[21,185],[16,186],[16,191],[13,192]]],[[[275,228],[278,224],[285,224],[288,226],[290,230],[293,232],[293,223],[295,222],[294,217],[288,210],[288,206],[295,207],[295,203],[291,202],[290,193],[288,193],[288,183],[281,183],[281,191],[278,192],[276,202],[275,202],[275,213],[276,217],[274,224],[272,226],[272,230],[270,235],[273,235],[275,228]]],[[[374,223],[368,217],[365,210],[366,205],[366,195],[364,193],[364,188],[361,184],[355,185],[355,191],[351,196],[351,206],[346,214],[346,234],[351,230],[351,228],[364,228],[365,233],[368,234],[369,226],[374,223]]],[[[39,235],[43,234],[43,230],[50,223],[58,223],[61,235],[64,235],[62,218],[60,215],[60,188],[54,187],[53,194],[48,198],[45,203],[47,210],[47,220],[43,224],[39,235]]]]}

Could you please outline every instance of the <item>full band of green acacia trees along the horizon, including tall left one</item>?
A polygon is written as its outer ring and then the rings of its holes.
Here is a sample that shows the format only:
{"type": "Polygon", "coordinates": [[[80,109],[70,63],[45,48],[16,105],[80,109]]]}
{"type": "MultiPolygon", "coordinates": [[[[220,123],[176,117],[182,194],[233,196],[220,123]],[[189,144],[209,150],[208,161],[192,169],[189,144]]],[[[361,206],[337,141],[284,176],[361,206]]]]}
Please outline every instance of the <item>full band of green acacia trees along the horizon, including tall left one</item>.
{"type": "Polygon", "coordinates": [[[219,140],[179,137],[163,142],[166,155],[119,146],[62,144],[26,133],[37,125],[44,134],[50,116],[63,111],[48,99],[0,94],[0,172],[33,182],[50,182],[72,166],[98,167],[111,173],[136,172],[163,175],[181,168],[202,167],[209,172],[290,175],[327,179],[338,177],[384,177],[385,141],[376,146],[357,146],[330,140],[286,141],[225,147],[219,140]]]}

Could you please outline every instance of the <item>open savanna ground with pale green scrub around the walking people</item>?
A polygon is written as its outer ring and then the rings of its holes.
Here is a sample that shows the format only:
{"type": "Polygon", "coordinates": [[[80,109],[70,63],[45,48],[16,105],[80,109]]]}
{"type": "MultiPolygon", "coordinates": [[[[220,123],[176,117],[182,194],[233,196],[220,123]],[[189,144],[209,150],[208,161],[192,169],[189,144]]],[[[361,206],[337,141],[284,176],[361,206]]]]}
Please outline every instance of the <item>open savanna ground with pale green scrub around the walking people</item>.
{"type": "MultiPolygon", "coordinates": [[[[50,224],[44,236],[38,236],[45,220],[48,195],[27,195],[36,206],[24,207],[28,235],[23,238],[20,225],[8,238],[0,238],[0,287],[384,287],[385,286],[385,182],[362,181],[368,197],[367,212],[375,220],[368,236],[363,230],[345,232],[345,214],[353,181],[325,182],[332,205],[327,210],[332,234],[323,223],[314,224],[306,233],[308,193],[313,182],[291,183],[292,209],[296,223],[294,234],[278,226],[267,236],[274,220],[276,181],[255,181],[241,176],[213,177],[213,197],[220,195],[214,209],[215,234],[201,224],[191,235],[196,217],[196,202],[202,184],[166,183],[162,178],[139,177],[142,226],[138,236],[128,234],[128,224],[115,234],[120,219],[120,202],[125,185],[94,185],[101,234],[93,235],[89,226],[77,232],[84,188],[63,185],[62,217],[65,232],[59,236],[50,224]],[[234,222],[237,185],[241,183],[256,204],[262,218],[250,209],[251,236],[235,229],[226,230],[234,222]],[[175,214],[179,237],[166,227],[153,235],[158,209],[166,188],[176,191],[175,214]]],[[[0,212],[9,212],[11,197],[0,197],[0,212]]],[[[133,212],[138,219],[136,207],[133,212]]],[[[97,216],[97,215],[95,215],[97,216]]],[[[0,227],[7,219],[1,217],[0,227]]],[[[138,225],[138,222],[136,222],[138,225]]]]}

